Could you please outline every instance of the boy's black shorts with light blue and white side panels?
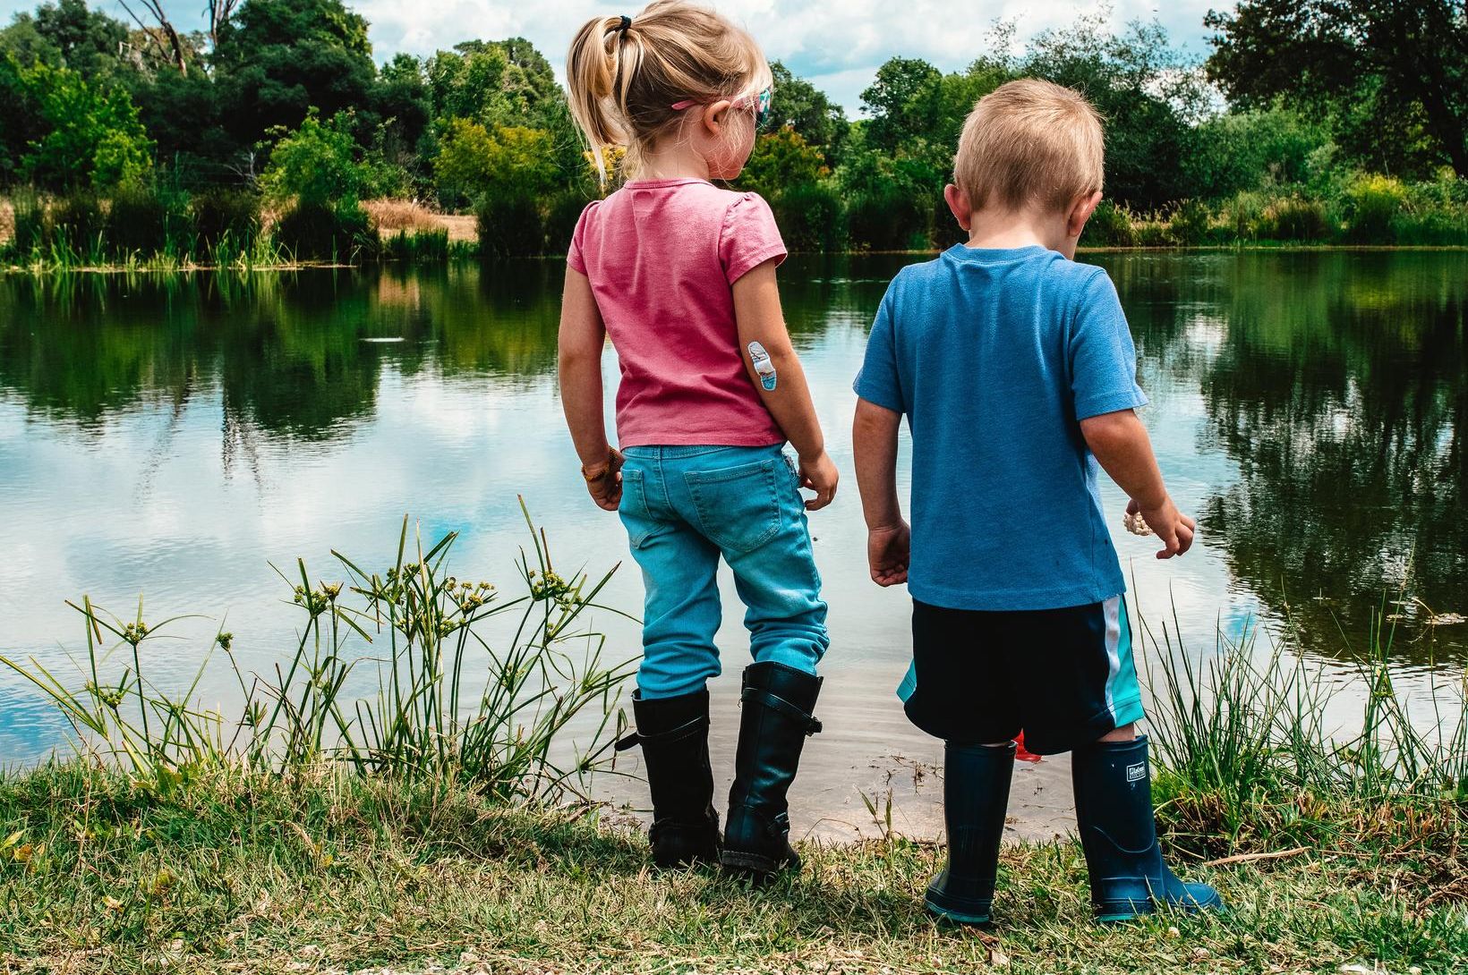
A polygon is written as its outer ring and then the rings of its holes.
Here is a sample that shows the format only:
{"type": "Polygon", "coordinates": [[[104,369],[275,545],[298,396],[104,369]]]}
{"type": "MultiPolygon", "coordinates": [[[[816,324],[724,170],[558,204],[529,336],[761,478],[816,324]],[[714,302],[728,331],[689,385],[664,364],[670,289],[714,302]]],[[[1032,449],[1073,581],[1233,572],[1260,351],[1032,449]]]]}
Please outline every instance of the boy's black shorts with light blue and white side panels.
{"type": "Polygon", "coordinates": [[[1142,718],[1126,600],[1063,610],[948,610],[913,600],[909,720],[962,745],[1022,730],[1036,755],[1069,752],[1142,718]]]}

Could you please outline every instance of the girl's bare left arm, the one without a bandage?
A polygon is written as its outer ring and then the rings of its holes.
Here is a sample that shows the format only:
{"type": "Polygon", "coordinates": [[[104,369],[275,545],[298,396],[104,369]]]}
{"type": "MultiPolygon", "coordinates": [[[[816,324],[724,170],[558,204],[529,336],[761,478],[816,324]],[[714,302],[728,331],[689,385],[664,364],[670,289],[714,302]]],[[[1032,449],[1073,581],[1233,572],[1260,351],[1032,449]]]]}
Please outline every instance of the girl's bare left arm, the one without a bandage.
{"type": "Polygon", "coordinates": [[[602,347],[606,325],[586,274],[567,268],[558,339],[561,406],[592,500],[615,512],[622,500],[622,457],[606,441],[602,412],[602,347]]]}

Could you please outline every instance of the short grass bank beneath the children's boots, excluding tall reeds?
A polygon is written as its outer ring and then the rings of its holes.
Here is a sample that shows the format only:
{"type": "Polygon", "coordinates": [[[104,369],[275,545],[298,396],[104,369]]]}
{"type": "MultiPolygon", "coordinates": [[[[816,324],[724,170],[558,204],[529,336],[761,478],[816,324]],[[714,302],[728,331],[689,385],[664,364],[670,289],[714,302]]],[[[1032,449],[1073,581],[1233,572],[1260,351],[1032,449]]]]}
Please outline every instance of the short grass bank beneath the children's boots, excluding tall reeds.
{"type": "Polygon", "coordinates": [[[806,845],[799,878],[750,888],[652,874],[640,834],[583,808],[339,768],[160,787],[70,764],[0,781],[0,827],[7,972],[1406,974],[1468,956],[1462,896],[1424,896],[1415,875],[1431,861],[1461,877],[1461,852],[1380,837],[1192,864],[1230,913],[1122,928],[1091,921],[1075,845],[1009,847],[998,924],[969,931],[920,908],[934,845],[806,845]]]}

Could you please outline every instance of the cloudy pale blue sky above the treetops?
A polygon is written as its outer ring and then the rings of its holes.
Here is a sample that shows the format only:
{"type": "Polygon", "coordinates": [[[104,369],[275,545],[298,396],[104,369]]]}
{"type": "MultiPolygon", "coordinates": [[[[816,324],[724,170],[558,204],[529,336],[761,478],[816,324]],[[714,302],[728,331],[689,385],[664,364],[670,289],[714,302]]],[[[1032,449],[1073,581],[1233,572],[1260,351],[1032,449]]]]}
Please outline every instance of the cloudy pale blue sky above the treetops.
{"type": "MultiPolygon", "coordinates": [[[[399,51],[430,54],[470,38],[526,37],[561,72],[565,47],[593,16],[625,13],[640,6],[587,0],[348,0],[371,23],[379,60],[399,51]]],[[[35,0],[0,0],[0,18],[34,9],[35,0]]],[[[95,9],[126,19],[117,0],[94,0],[95,9]]],[[[201,23],[203,0],[163,0],[178,26],[201,23]]],[[[831,98],[857,114],[862,89],[893,56],[922,57],[942,70],[957,70],[984,48],[995,21],[1014,21],[1020,41],[1047,28],[1066,26],[1082,13],[1110,9],[1116,25],[1161,21],[1173,43],[1193,53],[1207,50],[1202,18],[1229,0],[715,0],[718,10],[750,29],[771,60],[782,60],[831,98]]],[[[137,4],[135,7],[137,9],[137,4]]]]}

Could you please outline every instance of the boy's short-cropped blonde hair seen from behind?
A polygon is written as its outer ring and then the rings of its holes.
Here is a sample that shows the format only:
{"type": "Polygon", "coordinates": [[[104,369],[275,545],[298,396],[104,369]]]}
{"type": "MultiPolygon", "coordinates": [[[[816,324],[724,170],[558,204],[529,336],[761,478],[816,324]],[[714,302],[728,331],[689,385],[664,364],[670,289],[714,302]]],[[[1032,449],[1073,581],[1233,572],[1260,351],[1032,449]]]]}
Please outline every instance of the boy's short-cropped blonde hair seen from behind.
{"type": "Polygon", "coordinates": [[[1006,82],[963,123],[953,182],[975,211],[989,204],[1066,210],[1101,189],[1101,116],[1085,95],[1048,81],[1006,82]]]}

